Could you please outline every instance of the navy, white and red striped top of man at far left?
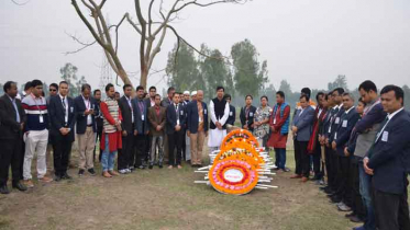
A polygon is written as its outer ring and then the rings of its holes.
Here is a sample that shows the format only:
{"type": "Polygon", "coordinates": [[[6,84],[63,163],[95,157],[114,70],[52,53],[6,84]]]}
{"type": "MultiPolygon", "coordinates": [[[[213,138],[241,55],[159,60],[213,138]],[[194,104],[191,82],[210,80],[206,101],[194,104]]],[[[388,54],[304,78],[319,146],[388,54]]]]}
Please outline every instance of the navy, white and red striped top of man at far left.
{"type": "Polygon", "coordinates": [[[26,95],[21,103],[27,115],[26,131],[38,131],[48,127],[47,102],[43,96],[26,95]]]}

